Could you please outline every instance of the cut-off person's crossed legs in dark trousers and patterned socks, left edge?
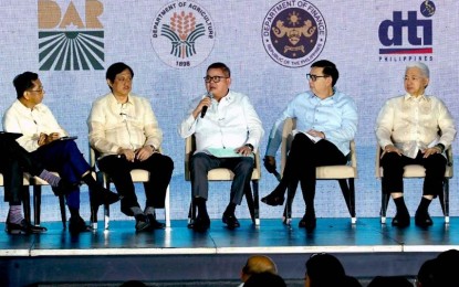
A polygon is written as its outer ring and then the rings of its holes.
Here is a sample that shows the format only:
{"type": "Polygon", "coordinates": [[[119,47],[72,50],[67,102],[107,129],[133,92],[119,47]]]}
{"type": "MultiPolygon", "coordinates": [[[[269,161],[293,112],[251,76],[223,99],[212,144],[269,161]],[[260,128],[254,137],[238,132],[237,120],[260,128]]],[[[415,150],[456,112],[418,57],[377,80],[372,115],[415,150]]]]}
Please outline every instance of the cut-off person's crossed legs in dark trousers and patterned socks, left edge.
{"type": "MultiPolygon", "coordinates": [[[[15,135],[15,134],[14,134],[15,135]]],[[[35,161],[11,135],[0,135],[0,172],[3,174],[4,201],[10,205],[6,221],[6,231],[9,234],[43,233],[43,226],[31,225],[22,215],[22,185],[23,172],[48,181],[56,195],[69,190],[71,184],[53,173],[50,173],[43,166],[35,161]]]]}

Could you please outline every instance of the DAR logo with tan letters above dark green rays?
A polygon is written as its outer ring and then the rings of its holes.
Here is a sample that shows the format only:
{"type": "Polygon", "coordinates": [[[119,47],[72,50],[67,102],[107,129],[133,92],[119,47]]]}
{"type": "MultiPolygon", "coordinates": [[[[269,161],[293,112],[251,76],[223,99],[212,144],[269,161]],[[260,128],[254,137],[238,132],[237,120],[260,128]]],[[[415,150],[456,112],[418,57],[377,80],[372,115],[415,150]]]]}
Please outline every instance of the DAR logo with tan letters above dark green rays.
{"type": "Polygon", "coordinates": [[[104,7],[97,0],[80,2],[83,11],[76,9],[74,1],[64,7],[39,0],[41,71],[104,70],[104,26],[98,20],[104,7]]]}

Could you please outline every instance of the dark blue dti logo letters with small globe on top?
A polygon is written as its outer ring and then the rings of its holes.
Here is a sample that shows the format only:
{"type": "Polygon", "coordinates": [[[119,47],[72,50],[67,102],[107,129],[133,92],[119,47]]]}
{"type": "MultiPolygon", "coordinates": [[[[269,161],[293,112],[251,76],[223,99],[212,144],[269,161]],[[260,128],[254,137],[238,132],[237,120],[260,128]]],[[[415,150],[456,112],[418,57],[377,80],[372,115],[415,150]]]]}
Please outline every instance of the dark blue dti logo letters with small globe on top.
{"type": "Polygon", "coordinates": [[[401,11],[393,12],[393,20],[384,20],[379,24],[379,41],[386,46],[379,54],[431,54],[432,20],[436,8],[432,1],[426,0],[417,11],[408,11],[406,18],[401,11]],[[424,19],[423,19],[424,17],[424,19]]]}

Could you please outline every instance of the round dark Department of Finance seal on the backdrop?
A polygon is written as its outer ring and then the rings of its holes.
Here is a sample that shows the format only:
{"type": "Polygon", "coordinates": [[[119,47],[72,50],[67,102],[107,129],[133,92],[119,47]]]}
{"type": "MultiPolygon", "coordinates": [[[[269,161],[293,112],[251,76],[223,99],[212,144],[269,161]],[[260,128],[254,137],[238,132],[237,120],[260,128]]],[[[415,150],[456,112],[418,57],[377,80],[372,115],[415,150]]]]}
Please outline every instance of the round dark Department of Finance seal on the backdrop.
{"type": "Polygon", "coordinates": [[[326,24],[321,11],[311,2],[284,0],[265,15],[261,38],[264,50],[275,63],[302,67],[322,53],[326,24]]]}

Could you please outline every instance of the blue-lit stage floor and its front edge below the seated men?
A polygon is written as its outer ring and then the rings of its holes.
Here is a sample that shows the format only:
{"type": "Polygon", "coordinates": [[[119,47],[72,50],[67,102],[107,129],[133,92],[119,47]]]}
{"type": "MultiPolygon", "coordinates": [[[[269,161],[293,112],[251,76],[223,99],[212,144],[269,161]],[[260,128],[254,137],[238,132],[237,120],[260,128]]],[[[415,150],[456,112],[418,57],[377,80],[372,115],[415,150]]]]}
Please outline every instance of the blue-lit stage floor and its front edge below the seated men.
{"type": "MultiPolygon", "coordinates": [[[[459,219],[434,217],[434,226],[399,230],[379,219],[317,219],[307,233],[281,220],[261,220],[260,226],[241,220],[241,227],[226,228],[212,220],[206,233],[196,233],[187,222],[171,227],[136,233],[134,220],[112,221],[109,231],[71,236],[60,222],[45,222],[45,234],[0,233],[0,285],[35,283],[97,283],[238,279],[250,254],[270,255],[280,274],[292,280],[304,277],[304,263],[317,252],[336,255],[346,273],[358,278],[377,275],[413,277],[420,265],[438,253],[459,249],[459,219]],[[70,276],[71,275],[71,276],[70,276]],[[6,279],[7,278],[7,279],[6,279]]],[[[388,219],[388,223],[390,219],[388,219]]],[[[0,224],[4,228],[4,224],[0,224]]]]}

